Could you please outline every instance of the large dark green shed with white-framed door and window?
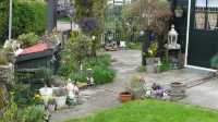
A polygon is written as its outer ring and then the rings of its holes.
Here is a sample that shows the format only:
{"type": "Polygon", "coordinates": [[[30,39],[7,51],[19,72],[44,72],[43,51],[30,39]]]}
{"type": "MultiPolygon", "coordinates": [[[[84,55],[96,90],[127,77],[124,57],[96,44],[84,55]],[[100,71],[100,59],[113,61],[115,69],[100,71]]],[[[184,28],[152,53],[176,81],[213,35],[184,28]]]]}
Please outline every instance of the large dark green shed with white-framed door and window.
{"type": "Polygon", "coordinates": [[[171,0],[172,11],[180,7],[183,16],[174,15],[185,66],[213,71],[210,61],[218,52],[218,0],[171,0]]]}

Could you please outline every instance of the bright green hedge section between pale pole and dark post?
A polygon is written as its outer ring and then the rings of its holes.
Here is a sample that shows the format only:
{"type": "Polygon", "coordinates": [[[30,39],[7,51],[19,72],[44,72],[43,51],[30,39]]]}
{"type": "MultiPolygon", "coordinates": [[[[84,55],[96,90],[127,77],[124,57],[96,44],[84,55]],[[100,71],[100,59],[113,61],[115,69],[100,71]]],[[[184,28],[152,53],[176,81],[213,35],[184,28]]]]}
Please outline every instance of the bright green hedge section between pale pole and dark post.
{"type": "Polygon", "coordinates": [[[43,0],[13,0],[13,37],[34,32],[45,33],[47,4],[43,0]]]}

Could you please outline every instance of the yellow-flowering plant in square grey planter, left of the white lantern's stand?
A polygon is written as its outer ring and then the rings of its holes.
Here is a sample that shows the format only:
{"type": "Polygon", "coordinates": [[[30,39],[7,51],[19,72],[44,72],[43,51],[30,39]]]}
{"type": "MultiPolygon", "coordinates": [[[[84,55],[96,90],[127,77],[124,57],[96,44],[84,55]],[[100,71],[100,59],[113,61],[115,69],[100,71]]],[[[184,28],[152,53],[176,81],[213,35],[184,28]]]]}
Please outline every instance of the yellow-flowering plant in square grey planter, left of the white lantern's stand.
{"type": "Polygon", "coordinates": [[[158,51],[158,42],[150,42],[147,52],[144,53],[146,57],[146,71],[148,73],[155,73],[158,71],[158,66],[160,65],[160,58],[157,58],[158,51]]]}

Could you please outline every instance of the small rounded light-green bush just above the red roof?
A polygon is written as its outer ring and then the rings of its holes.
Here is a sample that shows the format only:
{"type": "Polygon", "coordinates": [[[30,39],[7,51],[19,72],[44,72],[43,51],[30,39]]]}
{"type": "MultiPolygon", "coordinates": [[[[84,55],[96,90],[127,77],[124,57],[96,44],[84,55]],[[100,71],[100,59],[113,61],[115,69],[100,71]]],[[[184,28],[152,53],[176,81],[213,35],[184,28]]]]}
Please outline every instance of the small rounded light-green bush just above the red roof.
{"type": "Polygon", "coordinates": [[[19,42],[23,48],[33,46],[39,41],[39,37],[34,33],[22,34],[17,37],[19,42]]]}

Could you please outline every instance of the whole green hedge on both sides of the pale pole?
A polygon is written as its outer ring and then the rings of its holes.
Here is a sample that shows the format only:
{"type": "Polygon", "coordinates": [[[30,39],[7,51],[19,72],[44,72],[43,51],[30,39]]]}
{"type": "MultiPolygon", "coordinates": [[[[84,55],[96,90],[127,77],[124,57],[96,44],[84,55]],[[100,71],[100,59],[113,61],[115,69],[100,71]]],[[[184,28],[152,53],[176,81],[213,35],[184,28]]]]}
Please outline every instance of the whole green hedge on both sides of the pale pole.
{"type": "MultiPolygon", "coordinates": [[[[0,42],[8,38],[9,0],[0,0],[0,42]]],[[[47,27],[47,3],[43,0],[13,0],[13,38],[24,33],[43,34],[47,27]]]]}

